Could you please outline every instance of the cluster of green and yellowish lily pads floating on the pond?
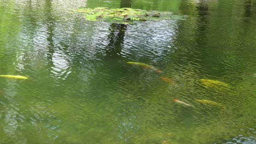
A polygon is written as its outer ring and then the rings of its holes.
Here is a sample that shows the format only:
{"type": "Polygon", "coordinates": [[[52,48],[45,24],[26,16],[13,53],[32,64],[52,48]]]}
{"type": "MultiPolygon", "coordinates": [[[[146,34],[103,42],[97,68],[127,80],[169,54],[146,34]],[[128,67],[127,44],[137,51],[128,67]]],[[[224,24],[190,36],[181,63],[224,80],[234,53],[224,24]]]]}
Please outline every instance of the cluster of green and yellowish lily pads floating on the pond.
{"type": "Polygon", "coordinates": [[[132,8],[81,8],[75,10],[82,13],[89,21],[106,21],[109,23],[134,23],[138,21],[161,21],[171,19],[184,19],[187,16],[173,15],[170,11],[148,11],[132,8]]]}

